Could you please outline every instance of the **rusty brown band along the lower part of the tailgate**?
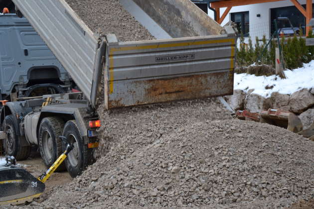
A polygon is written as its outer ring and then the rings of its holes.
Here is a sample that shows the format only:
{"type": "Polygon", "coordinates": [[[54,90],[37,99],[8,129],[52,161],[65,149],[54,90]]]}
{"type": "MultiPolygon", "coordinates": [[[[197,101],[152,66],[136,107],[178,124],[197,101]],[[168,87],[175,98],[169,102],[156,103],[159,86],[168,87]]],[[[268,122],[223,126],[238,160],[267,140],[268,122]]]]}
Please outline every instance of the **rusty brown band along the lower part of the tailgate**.
{"type": "Polygon", "coordinates": [[[130,100],[122,95],[109,100],[108,107],[136,106],[166,103],[180,100],[193,100],[233,94],[233,79],[229,72],[210,73],[176,78],[134,81],[126,92],[130,100]],[[134,89],[138,90],[134,92],[134,89]]]}

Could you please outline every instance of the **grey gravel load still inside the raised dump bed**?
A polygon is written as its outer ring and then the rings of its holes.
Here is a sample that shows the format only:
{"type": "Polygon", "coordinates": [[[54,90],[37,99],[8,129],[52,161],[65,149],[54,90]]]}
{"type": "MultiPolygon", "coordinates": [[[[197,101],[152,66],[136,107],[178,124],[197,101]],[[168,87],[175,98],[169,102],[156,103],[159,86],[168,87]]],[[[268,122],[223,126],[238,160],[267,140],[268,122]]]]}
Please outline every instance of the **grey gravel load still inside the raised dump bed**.
{"type": "Polygon", "coordinates": [[[119,0],[66,0],[73,10],[93,31],[114,33],[120,41],[155,39],[119,0]]]}

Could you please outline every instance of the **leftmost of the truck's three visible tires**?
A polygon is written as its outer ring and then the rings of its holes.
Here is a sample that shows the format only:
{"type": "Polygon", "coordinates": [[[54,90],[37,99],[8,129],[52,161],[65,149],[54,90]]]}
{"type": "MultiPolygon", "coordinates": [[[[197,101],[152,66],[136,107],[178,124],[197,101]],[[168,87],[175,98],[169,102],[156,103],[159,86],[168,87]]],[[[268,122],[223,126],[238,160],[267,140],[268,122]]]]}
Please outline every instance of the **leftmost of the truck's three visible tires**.
{"type": "Polygon", "coordinates": [[[7,155],[14,156],[16,160],[26,160],[30,154],[31,146],[21,146],[16,134],[17,124],[13,115],[5,116],[2,128],[6,133],[6,140],[3,140],[4,151],[7,155]]]}

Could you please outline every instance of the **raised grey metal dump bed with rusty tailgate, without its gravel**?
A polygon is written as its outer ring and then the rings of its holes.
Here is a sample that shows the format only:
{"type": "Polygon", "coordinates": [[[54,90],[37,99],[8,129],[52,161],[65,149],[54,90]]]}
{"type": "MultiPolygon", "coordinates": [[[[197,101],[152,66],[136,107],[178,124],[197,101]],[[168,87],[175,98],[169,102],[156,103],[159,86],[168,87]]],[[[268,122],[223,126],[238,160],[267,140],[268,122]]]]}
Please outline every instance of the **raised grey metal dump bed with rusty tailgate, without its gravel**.
{"type": "Polygon", "coordinates": [[[13,0],[93,106],[101,73],[105,106],[233,93],[236,34],[189,0],[120,0],[157,40],[93,34],[65,0],[13,0]]]}

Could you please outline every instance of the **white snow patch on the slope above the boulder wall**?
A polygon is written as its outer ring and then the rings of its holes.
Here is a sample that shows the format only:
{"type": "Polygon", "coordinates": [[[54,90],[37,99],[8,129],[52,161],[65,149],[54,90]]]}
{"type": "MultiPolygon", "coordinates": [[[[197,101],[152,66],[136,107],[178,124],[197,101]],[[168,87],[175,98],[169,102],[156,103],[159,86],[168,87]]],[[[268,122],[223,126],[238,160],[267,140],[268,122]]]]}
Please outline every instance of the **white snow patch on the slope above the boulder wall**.
{"type": "Polygon", "coordinates": [[[304,64],[302,68],[284,71],[287,79],[279,76],[255,76],[246,73],[234,75],[234,89],[248,92],[254,89],[252,94],[269,98],[273,92],[291,95],[301,89],[314,87],[314,60],[304,64]],[[272,89],[266,89],[266,87],[272,89]]]}

